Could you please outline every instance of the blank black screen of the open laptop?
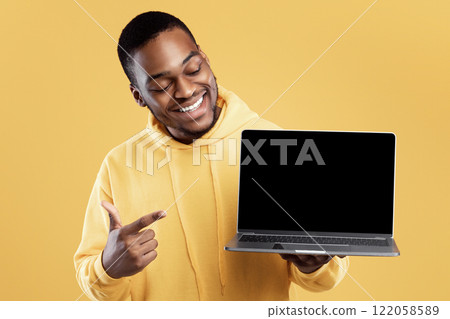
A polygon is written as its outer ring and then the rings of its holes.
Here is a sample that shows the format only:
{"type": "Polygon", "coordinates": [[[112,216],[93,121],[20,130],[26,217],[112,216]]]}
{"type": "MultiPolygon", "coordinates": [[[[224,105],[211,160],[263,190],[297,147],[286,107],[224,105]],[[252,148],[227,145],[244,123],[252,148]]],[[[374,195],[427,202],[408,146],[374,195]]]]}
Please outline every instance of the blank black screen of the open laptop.
{"type": "Polygon", "coordinates": [[[394,170],[393,133],[245,130],[238,230],[392,234],[394,170]]]}

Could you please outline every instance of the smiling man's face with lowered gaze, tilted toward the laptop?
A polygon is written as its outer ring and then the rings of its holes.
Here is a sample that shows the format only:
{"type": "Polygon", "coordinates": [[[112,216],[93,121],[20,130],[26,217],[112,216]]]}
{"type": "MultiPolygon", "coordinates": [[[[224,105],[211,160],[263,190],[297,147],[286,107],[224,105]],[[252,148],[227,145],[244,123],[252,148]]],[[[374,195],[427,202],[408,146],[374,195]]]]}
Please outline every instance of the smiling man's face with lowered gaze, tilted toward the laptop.
{"type": "Polygon", "coordinates": [[[137,87],[130,89],[136,102],[147,105],[176,139],[189,144],[212,128],[220,113],[216,79],[206,54],[185,31],[161,32],[134,59],[137,87]]]}

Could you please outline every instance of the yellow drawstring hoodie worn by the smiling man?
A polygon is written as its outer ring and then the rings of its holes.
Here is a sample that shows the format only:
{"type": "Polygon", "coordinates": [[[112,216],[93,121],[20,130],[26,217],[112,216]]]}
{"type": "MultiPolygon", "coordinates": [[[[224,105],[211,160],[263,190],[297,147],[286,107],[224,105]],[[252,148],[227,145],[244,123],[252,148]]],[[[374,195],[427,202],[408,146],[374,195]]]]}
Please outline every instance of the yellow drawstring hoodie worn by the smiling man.
{"type": "Polygon", "coordinates": [[[292,300],[301,294],[299,286],[323,291],[345,276],[348,257],[303,274],[278,254],[224,250],[236,232],[240,133],[279,127],[256,121],[236,94],[218,89],[219,119],[194,144],[171,138],[149,112],[147,127],[106,155],[74,256],[77,281],[90,299],[289,300],[291,293],[292,300]],[[158,256],[140,273],[114,279],[104,271],[109,217],[102,200],[117,207],[122,225],[167,211],[147,227],[155,231],[158,256]]]}

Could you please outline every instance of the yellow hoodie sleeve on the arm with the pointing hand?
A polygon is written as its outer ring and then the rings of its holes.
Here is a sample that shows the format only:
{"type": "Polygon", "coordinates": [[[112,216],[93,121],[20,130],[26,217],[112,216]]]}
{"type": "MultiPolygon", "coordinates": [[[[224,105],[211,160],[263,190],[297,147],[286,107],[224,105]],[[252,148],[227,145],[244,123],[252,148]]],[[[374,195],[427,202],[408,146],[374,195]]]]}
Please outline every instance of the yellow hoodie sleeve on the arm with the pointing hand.
{"type": "Polygon", "coordinates": [[[89,198],[81,243],[74,255],[78,284],[92,300],[131,300],[130,279],[110,277],[102,265],[102,252],[109,234],[109,217],[102,200],[114,204],[111,196],[107,157],[102,162],[89,198]]]}

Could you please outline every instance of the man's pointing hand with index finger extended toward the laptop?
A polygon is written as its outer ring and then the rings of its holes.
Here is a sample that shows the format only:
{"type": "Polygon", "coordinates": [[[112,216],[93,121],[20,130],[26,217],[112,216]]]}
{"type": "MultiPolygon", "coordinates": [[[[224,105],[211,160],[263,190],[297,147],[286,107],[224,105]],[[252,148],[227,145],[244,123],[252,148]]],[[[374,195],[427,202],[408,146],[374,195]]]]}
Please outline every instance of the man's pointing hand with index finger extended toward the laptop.
{"type": "Polygon", "coordinates": [[[164,211],[156,211],[142,216],[131,224],[122,226],[119,211],[107,202],[101,206],[109,214],[109,235],[102,254],[103,268],[112,278],[132,276],[142,271],[156,258],[158,242],[152,229],[142,228],[166,216],[164,211]]]}

